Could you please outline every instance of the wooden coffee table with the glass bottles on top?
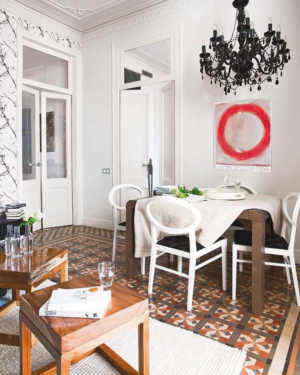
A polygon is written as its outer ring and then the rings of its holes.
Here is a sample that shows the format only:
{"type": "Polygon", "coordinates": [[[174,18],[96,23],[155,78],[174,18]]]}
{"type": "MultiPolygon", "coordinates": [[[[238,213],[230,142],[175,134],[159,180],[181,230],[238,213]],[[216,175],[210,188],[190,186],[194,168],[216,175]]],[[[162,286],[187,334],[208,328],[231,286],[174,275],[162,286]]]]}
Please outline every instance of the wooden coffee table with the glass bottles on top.
{"type": "MultiPolygon", "coordinates": [[[[11,302],[0,307],[0,317],[19,304],[19,290],[31,292],[42,281],[60,271],[61,281],[67,280],[67,250],[51,247],[37,247],[33,255],[17,259],[5,257],[0,252],[0,287],[12,289],[11,302]]],[[[31,345],[36,342],[31,337],[31,345]]],[[[0,344],[19,345],[19,335],[0,333],[0,344]]]]}

